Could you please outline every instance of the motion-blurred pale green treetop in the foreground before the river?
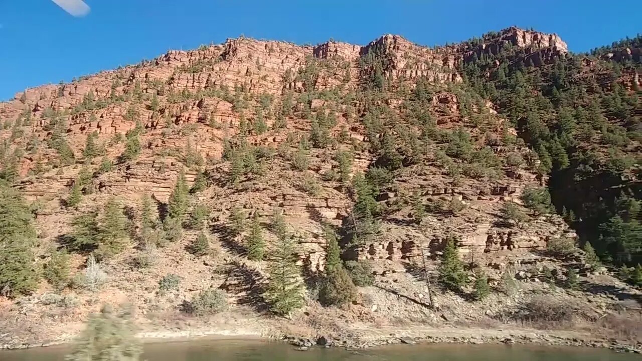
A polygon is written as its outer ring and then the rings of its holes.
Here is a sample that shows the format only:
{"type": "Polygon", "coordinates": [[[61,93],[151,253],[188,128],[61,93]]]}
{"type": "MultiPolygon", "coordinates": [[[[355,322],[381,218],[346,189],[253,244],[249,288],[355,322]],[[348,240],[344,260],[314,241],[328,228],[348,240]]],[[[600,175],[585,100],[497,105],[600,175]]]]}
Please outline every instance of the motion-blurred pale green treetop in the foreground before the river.
{"type": "Polygon", "coordinates": [[[132,310],[114,312],[103,306],[93,314],[87,328],[76,339],[73,351],[65,361],[138,361],[143,353],[140,340],[135,337],[132,310]]]}

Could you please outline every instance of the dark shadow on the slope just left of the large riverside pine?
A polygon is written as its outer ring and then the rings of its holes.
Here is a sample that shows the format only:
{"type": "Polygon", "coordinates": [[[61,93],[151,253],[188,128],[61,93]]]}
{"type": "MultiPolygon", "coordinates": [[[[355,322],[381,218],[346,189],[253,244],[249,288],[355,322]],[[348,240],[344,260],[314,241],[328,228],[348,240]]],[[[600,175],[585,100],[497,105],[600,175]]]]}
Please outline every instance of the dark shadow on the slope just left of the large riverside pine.
{"type": "Polygon", "coordinates": [[[265,280],[260,272],[250,269],[239,261],[229,263],[227,276],[220,287],[230,295],[238,297],[238,304],[254,308],[257,312],[266,312],[269,308],[263,293],[265,280]]]}

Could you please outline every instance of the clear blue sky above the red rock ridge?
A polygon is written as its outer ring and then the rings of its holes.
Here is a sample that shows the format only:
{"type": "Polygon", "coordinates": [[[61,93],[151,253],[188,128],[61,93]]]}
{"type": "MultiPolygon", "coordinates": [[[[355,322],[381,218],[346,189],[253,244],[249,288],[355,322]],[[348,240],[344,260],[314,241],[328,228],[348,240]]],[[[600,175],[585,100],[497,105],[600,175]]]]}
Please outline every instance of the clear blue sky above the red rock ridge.
{"type": "Polygon", "coordinates": [[[642,27],[639,0],[85,0],[74,18],[49,0],[0,0],[0,100],[228,37],[367,44],[396,33],[419,44],[458,42],[510,25],[556,32],[572,51],[642,27]]]}

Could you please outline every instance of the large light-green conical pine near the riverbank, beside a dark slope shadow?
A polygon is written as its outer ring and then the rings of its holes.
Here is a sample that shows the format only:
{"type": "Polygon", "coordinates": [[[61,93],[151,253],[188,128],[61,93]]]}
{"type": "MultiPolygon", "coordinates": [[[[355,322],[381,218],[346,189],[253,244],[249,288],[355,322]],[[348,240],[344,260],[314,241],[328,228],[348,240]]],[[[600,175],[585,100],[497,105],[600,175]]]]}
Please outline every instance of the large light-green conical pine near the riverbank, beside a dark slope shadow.
{"type": "Polygon", "coordinates": [[[291,312],[304,304],[304,285],[297,266],[295,242],[290,234],[280,234],[270,255],[268,265],[270,282],[265,299],[272,312],[289,317],[291,312]]]}

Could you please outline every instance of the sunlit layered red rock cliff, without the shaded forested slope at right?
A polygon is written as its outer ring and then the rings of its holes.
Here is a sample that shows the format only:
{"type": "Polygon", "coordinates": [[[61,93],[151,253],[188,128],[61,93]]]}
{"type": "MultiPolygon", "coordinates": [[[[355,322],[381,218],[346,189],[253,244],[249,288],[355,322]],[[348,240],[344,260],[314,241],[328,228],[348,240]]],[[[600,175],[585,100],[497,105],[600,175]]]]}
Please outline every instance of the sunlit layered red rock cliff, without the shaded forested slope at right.
{"type": "MultiPolygon", "coordinates": [[[[265,284],[265,262],[248,261],[239,251],[243,236],[229,233],[234,207],[247,218],[258,213],[268,240],[274,238],[267,231],[270,215],[282,210],[300,235],[297,253],[304,274],[320,276],[326,242],[322,225],[340,229],[349,222],[356,201],[350,179],[373,168],[390,170],[392,177],[377,189],[383,209],[377,219],[380,231],[359,244],[346,240],[342,247],[344,260],[370,261],[382,285],[394,286],[393,274],[401,287],[395,292],[423,293],[422,281],[408,270],[435,272],[451,238],[458,241],[460,256],[487,270],[491,281],[516,272],[523,260],[551,263],[562,279],[561,263],[542,258],[542,252],[555,240],[574,240],[575,232],[555,212],[532,213],[521,198],[525,189],[546,187],[548,175],[538,170],[540,161],[520,139],[514,122],[465,80],[466,64],[507,48],[520,49],[519,61],[534,68],[568,53],[557,35],[518,28],[437,48],[398,35],[384,35],[365,46],[240,38],[168,51],[71,84],[26,89],[0,103],[3,166],[8,167],[13,154],[18,164],[13,185],[38,204],[37,264],[46,262],[49,249],[60,247],[71,233],[74,216],[96,209],[109,195],[123,202],[135,224],[141,196],[151,195],[162,208],[181,170],[190,186],[199,173],[207,178],[207,187],[191,202],[209,209],[207,229],[218,256],[203,261],[187,253],[184,247],[196,236],[187,231],[177,243],[159,249],[155,265],[139,271],[131,266],[140,252],[132,242],[105,261],[110,281],[100,294],[65,291],[83,307],[60,315],[63,323],[81,319],[96,300],[126,299],[143,315],[169,312],[209,286],[221,286],[239,306],[251,304],[248,295],[265,284]],[[125,139],[134,130],[139,154],[123,159],[125,139]],[[91,134],[97,134],[103,159],[83,155],[91,134]],[[52,142],[60,137],[71,149],[71,160],[52,142]],[[250,149],[255,168],[232,180],[230,149],[250,149]],[[294,164],[299,152],[309,159],[304,166],[294,164]],[[344,152],[350,157],[347,168],[341,160],[344,152]],[[105,159],[114,166],[99,172],[105,159]],[[65,206],[83,168],[92,172],[93,191],[77,207],[65,206]],[[418,219],[417,204],[428,215],[418,219]],[[530,217],[519,227],[510,224],[502,215],[506,204],[530,217]],[[180,291],[172,299],[153,301],[157,282],[169,273],[184,280],[180,291]]],[[[639,85],[637,75],[634,82],[639,85]]],[[[84,261],[84,254],[73,255],[74,272],[82,271],[84,261]]],[[[39,295],[51,289],[42,281],[30,302],[38,304],[39,295]]],[[[372,297],[386,304],[388,312],[381,304],[377,311],[376,305],[356,302],[351,307],[361,315],[357,319],[388,322],[408,316],[392,311],[402,301],[372,297]]],[[[444,296],[443,302],[452,297],[444,296]]],[[[314,297],[308,302],[320,312],[314,297]]],[[[507,307],[510,302],[498,301],[507,307]]],[[[33,317],[45,317],[49,326],[53,322],[47,308],[33,306],[33,312],[23,314],[18,313],[21,307],[8,299],[0,303],[4,314],[12,315],[7,326],[33,317]]],[[[453,314],[462,307],[453,305],[453,314]]],[[[408,308],[408,314],[415,311],[408,308]]],[[[435,321],[435,315],[426,313],[424,321],[435,321]]],[[[44,338],[56,336],[51,331],[44,338]]]]}

